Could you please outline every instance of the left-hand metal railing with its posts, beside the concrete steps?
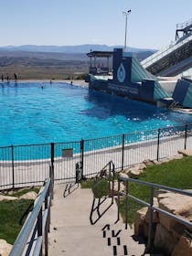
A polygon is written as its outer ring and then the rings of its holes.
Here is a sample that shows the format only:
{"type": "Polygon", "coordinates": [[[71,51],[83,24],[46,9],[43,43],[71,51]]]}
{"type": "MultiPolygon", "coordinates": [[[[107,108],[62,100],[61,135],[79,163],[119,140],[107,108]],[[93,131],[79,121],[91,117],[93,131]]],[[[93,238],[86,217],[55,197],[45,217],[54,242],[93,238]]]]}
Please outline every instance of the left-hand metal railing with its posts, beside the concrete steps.
{"type": "Polygon", "coordinates": [[[21,229],[10,256],[48,255],[48,232],[50,225],[51,179],[45,181],[38,193],[34,208],[21,229]]]}

